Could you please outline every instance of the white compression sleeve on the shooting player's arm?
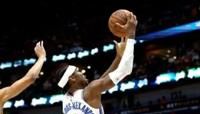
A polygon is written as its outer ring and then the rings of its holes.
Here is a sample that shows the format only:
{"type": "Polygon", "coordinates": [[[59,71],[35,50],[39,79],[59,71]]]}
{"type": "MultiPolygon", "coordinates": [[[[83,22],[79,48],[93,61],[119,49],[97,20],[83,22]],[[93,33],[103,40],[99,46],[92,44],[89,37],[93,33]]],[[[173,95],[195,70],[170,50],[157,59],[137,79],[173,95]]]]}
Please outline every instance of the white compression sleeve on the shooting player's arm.
{"type": "Polygon", "coordinates": [[[133,69],[133,59],[134,59],[134,39],[128,39],[127,44],[124,50],[124,54],[122,59],[116,70],[109,73],[110,79],[114,84],[119,83],[123,80],[127,75],[131,74],[133,69]]]}

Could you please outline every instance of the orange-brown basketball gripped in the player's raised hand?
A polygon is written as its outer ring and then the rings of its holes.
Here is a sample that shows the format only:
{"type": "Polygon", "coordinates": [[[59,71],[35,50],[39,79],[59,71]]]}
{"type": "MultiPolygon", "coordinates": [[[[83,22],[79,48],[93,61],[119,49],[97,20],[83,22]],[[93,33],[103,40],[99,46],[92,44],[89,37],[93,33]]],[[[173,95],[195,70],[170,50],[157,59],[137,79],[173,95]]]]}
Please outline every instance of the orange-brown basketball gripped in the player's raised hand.
{"type": "Polygon", "coordinates": [[[108,20],[108,27],[113,35],[120,38],[126,36],[126,32],[124,30],[117,28],[116,23],[119,23],[120,25],[125,25],[127,23],[128,20],[127,16],[129,13],[130,11],[126,9],[118,9],[110,15],[108,20]]]}

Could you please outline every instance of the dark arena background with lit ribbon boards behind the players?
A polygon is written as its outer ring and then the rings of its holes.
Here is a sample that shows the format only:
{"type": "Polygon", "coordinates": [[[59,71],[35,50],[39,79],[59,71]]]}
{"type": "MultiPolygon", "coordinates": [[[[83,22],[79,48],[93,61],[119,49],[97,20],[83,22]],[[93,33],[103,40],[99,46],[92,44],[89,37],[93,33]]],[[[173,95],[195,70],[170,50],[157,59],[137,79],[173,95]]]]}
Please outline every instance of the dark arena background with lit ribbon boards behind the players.
{"type": "Polygon", "coordinates": [[[115,56],[110,14],[138,18],[133,73],[103,93],[106,114],[200,113],[200,1],[7,1],[0,7],[0,87],[33,65],[35,43],[44,40],[47,61],[41,78],[4,106],[6,114],[61,114],[55,71],[78,65],[90,80],[115,56]]]}

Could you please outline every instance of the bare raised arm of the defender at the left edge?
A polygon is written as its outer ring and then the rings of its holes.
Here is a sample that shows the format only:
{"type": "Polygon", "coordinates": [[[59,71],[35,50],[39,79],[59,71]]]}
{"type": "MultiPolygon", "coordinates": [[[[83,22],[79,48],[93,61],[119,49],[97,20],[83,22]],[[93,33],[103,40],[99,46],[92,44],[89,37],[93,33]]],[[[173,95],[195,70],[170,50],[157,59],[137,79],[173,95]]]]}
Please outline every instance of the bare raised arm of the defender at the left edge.
{"type": "Polygon", "coordinates": [[[19,95],[27,87],[33,84],[37,78],[39,78],[40,70],[46,59],[46,51],[43,47],[43,41],[38,42],[34,50],[38,60],[26,75],[14,82],[12,85],[0,89],[0,114],[3,114],[3,105],[6,101],[19,95]]]}

